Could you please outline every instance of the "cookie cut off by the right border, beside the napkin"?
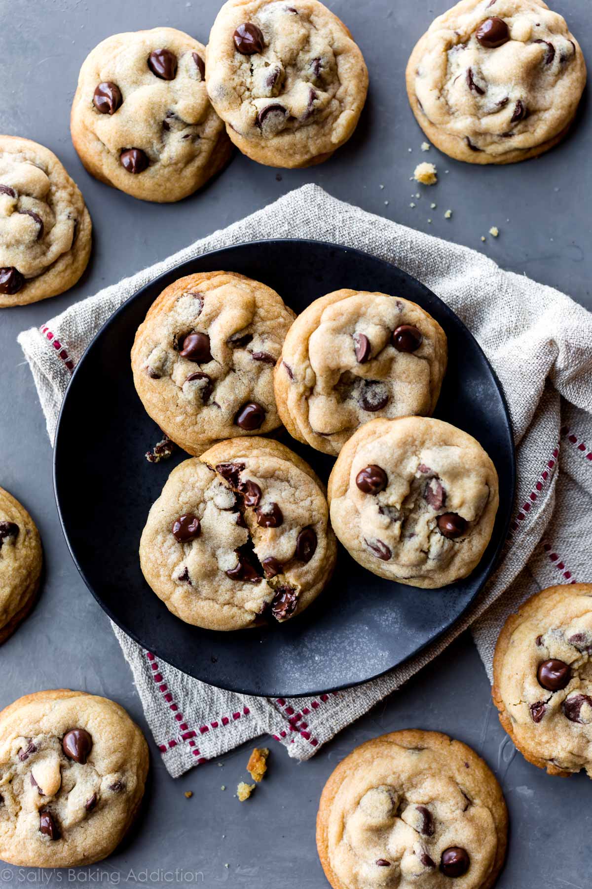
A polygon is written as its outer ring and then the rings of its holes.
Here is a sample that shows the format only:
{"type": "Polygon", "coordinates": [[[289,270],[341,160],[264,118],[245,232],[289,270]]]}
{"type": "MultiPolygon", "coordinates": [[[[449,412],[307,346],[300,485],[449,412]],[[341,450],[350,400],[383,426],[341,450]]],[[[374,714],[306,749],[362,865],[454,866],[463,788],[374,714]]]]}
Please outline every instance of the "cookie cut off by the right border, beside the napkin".
{"type": "Polygon", "coordinates": [[[592,778],[592,583],[549,587],[510,614],[495,647],[493,702],[529,763],[592,778]]]}

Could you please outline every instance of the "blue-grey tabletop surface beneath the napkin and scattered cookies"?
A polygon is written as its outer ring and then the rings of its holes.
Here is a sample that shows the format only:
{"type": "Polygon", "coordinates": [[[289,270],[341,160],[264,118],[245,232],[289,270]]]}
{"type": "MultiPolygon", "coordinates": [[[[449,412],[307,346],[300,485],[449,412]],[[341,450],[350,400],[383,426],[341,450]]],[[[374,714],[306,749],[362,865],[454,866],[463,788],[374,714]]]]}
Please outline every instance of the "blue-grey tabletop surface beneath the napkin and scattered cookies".
{"type": "MultiPolygon", "coordinates": [[[[237,156],[201,195],[164,206],[142,204],[92,180],[68,131],[76,77],[87,52],[114,32],[156,25],[181,28],[207,42],[218,5],[218,0],[0,0],[0,132],[27,136],[55,151],[83,190],[95,225],[91,265],[78,286],[56,299],[0,312],[0,484],[33,513],[47,562],[35,612],[0,653],[0,707],[20,694],[69,685],[120,701],[145,725],[107,617],[79,580],[62,539],[51,490],[51,449],[16,343],[20,330],[309,181],[369,211],[470,244],[503,268],[553,284],[592,308],[592,123],[586,98],[569,139],[536,161],[481,169],[457,164],[432,148],[429,159],[438,164],[440,182],[415,201],[415,209],[409,206],[417,189],[408,178],[426,156],[407,107],[403,74],[415,39],[448,0],[329,2],[366,55],[371,92],[358,131],[328,164],[276,176],[275,170],[237,156]],[[432,200],[436,210],[429,208],[432,200]],[[454,211],[449,221],[443,217],[447,208],[454,211]],[[487,236],[482,244],[480,236],[492,225],[500,228],[499,238],[487,236]]],[[[592,60],[588,0],[555,0],[554,7],[592,60]]],[[[85,498],[91,503],[91,492],[83,495],[83,506],[85,498]]],[[[0,885],[277,889],[289,883],[322,889],[327,884],[314,845],[314,818],[323,782],[360,741],[415,726],[467,741],[497,773],[511,817],[501,889],[590,885],[592,783],[581,775],[569,781],[549,778],[515,753],[497,722],[485,670],[468,635],[311,762],[300,765],[273,744],[269,779],[249,804],[233,798],[247,751],[224,757],[223,767],[201,765],[172,781],[153,744],[146,812],[117,853],[101,865],[70,873],[0,867],[0,885]],[[184,797],[187,789],[193,790],[191,799],[184,797]]]]}

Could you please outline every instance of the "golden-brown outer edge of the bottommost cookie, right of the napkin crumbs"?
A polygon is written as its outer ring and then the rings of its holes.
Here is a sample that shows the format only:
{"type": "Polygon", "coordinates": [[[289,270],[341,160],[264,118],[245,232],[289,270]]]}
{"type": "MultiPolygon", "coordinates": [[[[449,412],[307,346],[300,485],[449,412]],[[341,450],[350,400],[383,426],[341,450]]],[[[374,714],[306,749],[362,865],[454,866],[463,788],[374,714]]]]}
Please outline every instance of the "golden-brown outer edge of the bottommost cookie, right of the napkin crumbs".
{"type": "Polygon", "coordinates": [[[453,746],[455,749],[462,750],[462,756],[466,761],[470,762],[474,772],[480,773],[481,780],[487,782],[492,797],[489,802],[492,805],[490,812],[495,824],[497,848],[491,874],[487,877],[485,883],[482,883],[478,889],[491,889],[501,871],[508,848],[508,807],[501,792],[499,781],[486,764],[485,759],[479,757],[475,750],[470,748],[467,744],[464,744],[462,741],[455,741],[448,737],[447,734],[441,732],[428,732],[422,729],[402,729],[399,732],[383,734],[378,738],[372,738],[370,741],[365,741],[363,744],[360,744],[359,747],[353,749],[347,757],[342,759],[339,765],[336,766],[335,770],[329,775],[328,781],[320,795],[319,812],[317,813],[316,839],[320,863],[325,871],[325,876],[333,886],[333,889],[351,889],[351,887],[345,885],[339,877],[337,877],[331,867],[331,862],[329,861],[328,821],[331,805],[333,804],[337,791],[340,789],[344,779],[348,776],[350,768],[355,768],[353,764],[355,763],[358,751],[373,748],[382,745],[383,743],[393,743],[397,744],[399,747],[406,748],[423,746],[428,749],[446,750],[453,746]],[[500,810],[499,813],[495,811],[495,807],[500,810]],[[496,820],[496,814],[499,814],[499,820],[496,820]]]}

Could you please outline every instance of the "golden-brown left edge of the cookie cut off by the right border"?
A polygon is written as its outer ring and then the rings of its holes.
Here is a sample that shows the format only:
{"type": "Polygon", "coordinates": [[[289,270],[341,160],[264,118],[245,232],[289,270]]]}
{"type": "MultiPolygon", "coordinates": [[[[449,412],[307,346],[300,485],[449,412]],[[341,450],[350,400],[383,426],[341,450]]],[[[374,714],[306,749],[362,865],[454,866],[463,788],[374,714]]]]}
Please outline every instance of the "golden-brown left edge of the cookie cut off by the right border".
{"type": "Polygon", "coordinates": [[[536,618],[540,611],[541,604],[546,602],[548,599],[552,599],[556,596],[562,596],[567,591],[571,593],[592,593],[592,584],[557,584],[554,587],[542,589],[539,593],[534,593],[533,596],[526,599],[526,601],[522,605],[520,605],[517,612],[509,614],[509,617],[506,619],[506,622],[501,628],[500,635],[495,644],[495,652],[493,653],[492,699],[493,703],[499,711],[500,722],[504,731],[509,734],[512,743],[514,744],[516,749],[519,750],[522,756],[525,757],[525,760],[527,762],[531,763],[532,765],[536,765],[539,769],[545,769],[549,775],[559,776],[560,778],[569,778],[569,776],[574,773],[557,768],[556,765],[553,765],[553,763],[549,763],[546,759],[537,757],[533,753],[532,749],[526,747],[524,744],[520,743],[520,741],[517,740],[517,737],[513,730],[512,720],[509,716],[508,710],[506,709],[503,698],[501,697],[500,685],[501,676],[504,669],[504,661],[506,658],[506,654],[508,653],[509,645],[515,630],[517,630],[517,628],[520,627],[525,621],[530,621],[531,619],[536,618]]]}

